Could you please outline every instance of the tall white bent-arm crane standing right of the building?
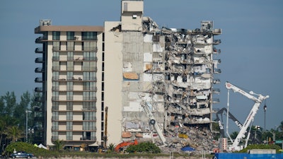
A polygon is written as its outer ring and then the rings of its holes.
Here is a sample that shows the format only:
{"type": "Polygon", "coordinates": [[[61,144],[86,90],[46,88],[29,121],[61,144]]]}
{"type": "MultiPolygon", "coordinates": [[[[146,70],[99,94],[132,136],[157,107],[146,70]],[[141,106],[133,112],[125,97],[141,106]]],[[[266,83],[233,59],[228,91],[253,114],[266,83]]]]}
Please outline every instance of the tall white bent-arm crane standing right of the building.
{"type": "MultiPolygon", "coordinates": [[[[250,113],[248,114],[248,117],[247,117],[246,121],[244,122],[240,132],[238,133],[238,136],[236,137],[236,139],[234,141],[232,141],[233,144],[231,146],[229,146],[229,151],[239,151],[243,147],[243,146],[239,146],[241,139],[243,139],[245,137],[248,126],[253,121],[255,114],[258,112],[258,108],[260,107],[262,100],[269,98],[269,95],[263,96],[263,95],[260,95],[260,94],[255,94],[255,93],[253,93],[253,91],[250,91],[250,93],[246,93],[241,88],[238,88],[238,87],[232,85],[229,82],[226,82],[225,86],[228,89],[228,99],[229,99],[229,90],[233,90],[234,92],[241,93],[242,95],[246,96],[246,98],[253,100],[255,102],[255,104],[253,105],[252,109],[250,110],[250,113]],[[255,98],[255,96],[253,96],[253,95],[258,95],[258,98],[255,98]]],[[[229,100],[227,102],[227,107],[228,107],[227,113],[229,114],[229,100]]],[[[248,135],[248,137],[249,137],[249,135],[248,135]]],[[[248,142],[248,137],[246,139],[246,142],[248,142]]]]}

